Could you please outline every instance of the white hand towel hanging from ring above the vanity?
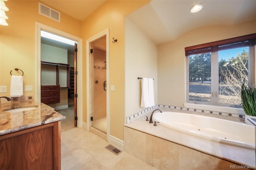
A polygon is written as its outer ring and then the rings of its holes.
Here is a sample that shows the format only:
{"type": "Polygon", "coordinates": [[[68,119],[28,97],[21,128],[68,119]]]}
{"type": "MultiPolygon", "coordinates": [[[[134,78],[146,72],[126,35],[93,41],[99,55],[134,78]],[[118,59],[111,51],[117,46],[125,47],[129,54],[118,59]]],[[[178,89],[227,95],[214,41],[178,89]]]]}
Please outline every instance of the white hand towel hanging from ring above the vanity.
{"type": "Polygon", "coordinates": [[[12,75],[10,85],[10,97],[21,97],[23,95],[23,79],[20,75],[12,75]]]}

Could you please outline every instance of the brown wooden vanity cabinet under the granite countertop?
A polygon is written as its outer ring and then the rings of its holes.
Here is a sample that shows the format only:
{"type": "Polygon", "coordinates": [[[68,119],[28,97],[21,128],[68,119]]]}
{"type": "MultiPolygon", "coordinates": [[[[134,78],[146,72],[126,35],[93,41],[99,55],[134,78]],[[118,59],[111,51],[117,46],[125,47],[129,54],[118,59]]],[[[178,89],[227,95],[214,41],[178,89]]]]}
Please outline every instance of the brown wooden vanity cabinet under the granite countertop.
{"type": "Polygon", "coordinates": [[[60,121],[0,136],[1,170],[60,170],[60,121]]]}

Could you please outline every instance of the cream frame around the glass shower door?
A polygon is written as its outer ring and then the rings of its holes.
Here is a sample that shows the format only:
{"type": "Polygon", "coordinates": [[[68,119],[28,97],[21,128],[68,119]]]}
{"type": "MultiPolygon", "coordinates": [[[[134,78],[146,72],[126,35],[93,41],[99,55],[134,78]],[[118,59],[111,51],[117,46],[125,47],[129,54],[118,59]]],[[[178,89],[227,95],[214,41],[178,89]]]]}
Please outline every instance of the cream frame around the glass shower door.
{"type": "Polygon", "coordinates": [[[90,57],[92,54],[90,53],[91,49],[91,43],[100,39],[101,37],[106,36],[106,81],[107,81],[107,91],[106,91],[106,118],[107,118],[107,133],[106,133],[106,141],[109,139],[109,132],[110,132],[110,85],[109,85],[109,77],[110,77],[110,67],[109,67],[109,60],[110,60],[110,55],[109,55],[109,29],[106,29],[92,38],[86,40],[86,105],[87,105],[87,111],[86,111],[86,125],[87,125],[87,130],[90,130],[90,127],[92,126],[92,123],[90,121],[90,117],[92,115],[92,92],[91,92],[91,85],[92,85],[92,78],[91,78],[91,71],[90,71],[90,64],[91,64],[91,59],[90,57]]]}

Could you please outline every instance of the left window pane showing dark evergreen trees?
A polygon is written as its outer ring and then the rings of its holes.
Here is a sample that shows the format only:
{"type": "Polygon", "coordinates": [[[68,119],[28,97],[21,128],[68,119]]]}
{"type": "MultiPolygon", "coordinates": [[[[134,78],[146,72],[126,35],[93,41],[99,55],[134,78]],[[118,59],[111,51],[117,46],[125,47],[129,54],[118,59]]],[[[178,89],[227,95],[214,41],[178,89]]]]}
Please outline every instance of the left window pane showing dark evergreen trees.
{"type": "Polygon", "coordinates": [[[211,102],[211,53],[189,56],[189,101],[211,102]]]}

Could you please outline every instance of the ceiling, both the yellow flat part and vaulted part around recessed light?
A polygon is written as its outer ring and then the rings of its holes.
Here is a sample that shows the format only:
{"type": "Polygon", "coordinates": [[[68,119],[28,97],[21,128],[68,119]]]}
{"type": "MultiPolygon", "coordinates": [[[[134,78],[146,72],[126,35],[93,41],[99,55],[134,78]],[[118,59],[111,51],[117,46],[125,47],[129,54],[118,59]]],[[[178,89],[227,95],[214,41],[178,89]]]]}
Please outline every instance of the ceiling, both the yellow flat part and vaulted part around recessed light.
{"type": "MultiPolygon", "coordinates": [[[[78,20],[84,20],[106,0],[41,0],[78,20]]],[[[202,26],[232,25],[256,19],[256,0],[152,0],[128,19],[156,44],[175,40],[202,26]],[[190,13],[194,4],[203,9],[190,13]]]]}

